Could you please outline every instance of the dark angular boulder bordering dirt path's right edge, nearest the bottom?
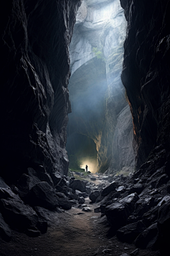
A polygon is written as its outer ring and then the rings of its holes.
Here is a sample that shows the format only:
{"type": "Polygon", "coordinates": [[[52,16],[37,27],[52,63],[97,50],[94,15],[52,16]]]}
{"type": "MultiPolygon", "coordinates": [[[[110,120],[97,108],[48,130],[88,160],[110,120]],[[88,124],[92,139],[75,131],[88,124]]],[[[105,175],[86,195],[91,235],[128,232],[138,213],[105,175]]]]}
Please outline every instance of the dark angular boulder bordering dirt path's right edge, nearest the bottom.
{"type": "Polygon", "coordinates": [[[142,221],[131,223],[117,230],[116,235],[123,243],[132,243],[142,231],[146,229],[142,221]]]}

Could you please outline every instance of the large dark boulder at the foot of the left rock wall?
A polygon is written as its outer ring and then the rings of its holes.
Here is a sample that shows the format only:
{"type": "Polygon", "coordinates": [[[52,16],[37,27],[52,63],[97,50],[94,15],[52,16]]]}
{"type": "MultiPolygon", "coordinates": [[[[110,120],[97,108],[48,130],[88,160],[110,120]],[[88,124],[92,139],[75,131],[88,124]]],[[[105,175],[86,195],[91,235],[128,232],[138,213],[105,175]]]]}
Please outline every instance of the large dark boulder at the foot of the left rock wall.
{"type": "Polygon", "coordinates": [[[42,206],[53,210],[58,206],[55,190],[47,182],[40,182],[30,189],[29,202],[32,206],[42,206]]]}

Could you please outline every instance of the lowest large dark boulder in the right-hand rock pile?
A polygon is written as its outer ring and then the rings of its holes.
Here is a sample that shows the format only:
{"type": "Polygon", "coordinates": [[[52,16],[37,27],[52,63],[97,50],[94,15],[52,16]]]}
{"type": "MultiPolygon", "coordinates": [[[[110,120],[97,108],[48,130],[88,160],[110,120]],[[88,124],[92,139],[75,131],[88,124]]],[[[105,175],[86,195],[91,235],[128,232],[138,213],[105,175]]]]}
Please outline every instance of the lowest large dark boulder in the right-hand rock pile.
{"type": "Polygon", "coordinates": [[[135,245],[141,249],[156,249],[159,245],[157,223],[152,224],[152,226],[149,226],[140,235],[138,235],[135,240],[135,245]]]}

